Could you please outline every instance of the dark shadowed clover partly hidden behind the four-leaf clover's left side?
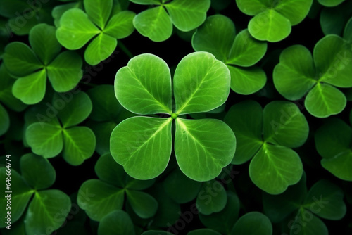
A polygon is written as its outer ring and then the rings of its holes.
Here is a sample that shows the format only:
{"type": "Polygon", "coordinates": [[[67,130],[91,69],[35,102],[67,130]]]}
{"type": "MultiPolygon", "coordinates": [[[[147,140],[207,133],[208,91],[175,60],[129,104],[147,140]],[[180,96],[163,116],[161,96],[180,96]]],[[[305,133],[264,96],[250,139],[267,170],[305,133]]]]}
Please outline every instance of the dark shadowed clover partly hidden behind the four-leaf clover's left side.
{"type": "Polygon", "coordinates": [[[93,109],[87,126],[96,136],[96,152],[100,155],[110,153],[110,136],[113,129],[134,114],[122,108],[116,100],[113,85],[100,85],[87,91],[93,109]]]}

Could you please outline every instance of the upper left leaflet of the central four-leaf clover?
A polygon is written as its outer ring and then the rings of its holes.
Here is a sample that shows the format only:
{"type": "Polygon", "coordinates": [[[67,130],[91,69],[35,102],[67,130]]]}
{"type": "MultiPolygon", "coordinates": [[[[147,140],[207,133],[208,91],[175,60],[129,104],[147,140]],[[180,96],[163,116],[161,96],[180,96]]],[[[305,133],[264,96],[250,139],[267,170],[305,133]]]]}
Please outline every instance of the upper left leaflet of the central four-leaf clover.
{"type": "Polygon", "coordinates": [[[170,69],[158,56],[135,56],[116,73],[115,94],[121,105],[133,113],[171,114],[170,69]]]}

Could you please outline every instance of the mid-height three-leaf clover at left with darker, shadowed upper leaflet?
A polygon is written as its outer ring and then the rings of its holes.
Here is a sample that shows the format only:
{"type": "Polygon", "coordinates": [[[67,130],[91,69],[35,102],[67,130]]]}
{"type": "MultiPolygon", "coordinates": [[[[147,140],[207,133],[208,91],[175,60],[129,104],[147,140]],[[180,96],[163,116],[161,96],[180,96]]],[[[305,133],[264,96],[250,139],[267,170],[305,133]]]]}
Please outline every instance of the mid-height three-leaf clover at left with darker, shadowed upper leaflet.
{"type": "Polygon", "coordinates": [[[77,126],[91,113],[92,101],[84,92],[67,95],[65,101],[65,94],[54,95],[46,113],[37,114],[37,121],[27,127],[25,139],[37,155],[53,158],[62,152],[66,162],[80,165],[93,155],[96,144],[91,129],[77,126]]]}

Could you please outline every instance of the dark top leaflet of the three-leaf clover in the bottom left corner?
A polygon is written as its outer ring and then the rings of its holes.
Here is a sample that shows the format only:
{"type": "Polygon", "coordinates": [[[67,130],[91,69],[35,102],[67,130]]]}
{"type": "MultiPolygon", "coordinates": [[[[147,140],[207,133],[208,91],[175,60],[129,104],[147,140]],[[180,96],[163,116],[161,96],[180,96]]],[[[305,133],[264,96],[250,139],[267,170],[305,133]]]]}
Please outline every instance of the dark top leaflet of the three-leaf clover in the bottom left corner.
{"type": "Polygon", "coordinates": [[[27,153],[20,158],[23,179],[34,189],[46,189],[54,184],[56,172],[49,160],[27,153]]]}

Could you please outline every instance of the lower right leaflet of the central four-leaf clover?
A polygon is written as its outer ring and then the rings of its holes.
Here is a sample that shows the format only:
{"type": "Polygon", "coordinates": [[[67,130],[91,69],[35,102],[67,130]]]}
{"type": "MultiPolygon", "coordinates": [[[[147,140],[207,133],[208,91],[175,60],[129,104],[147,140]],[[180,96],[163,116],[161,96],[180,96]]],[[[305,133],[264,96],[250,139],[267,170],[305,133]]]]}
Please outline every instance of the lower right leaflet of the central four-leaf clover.
{"type": "Polygon", "coordinates": [[[236,138],[225,122],[176,119],[175,155],[180,169],[196,181],[217,177],[229,165],[236,138]]]}

